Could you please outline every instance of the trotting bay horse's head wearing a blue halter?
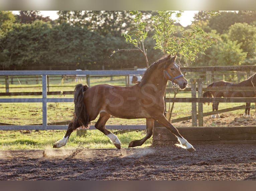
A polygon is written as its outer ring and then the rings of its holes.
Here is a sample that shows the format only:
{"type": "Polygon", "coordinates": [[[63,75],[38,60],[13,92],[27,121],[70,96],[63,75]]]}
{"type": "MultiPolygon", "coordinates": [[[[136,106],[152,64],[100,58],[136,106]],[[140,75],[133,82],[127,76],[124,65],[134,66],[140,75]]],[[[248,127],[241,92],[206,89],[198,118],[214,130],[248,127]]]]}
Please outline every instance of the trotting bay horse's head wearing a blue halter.
{"type": "Polygon", "coordinates": [[[179,65],[175,63],[177,55],[167,57],[166,64],[164,66],[164,78],[172,82],[172,84],[179,85],[180,89],[184,89],[187,86],[187,80],[184,78],[183,74],[180,72],[179,65]]]}

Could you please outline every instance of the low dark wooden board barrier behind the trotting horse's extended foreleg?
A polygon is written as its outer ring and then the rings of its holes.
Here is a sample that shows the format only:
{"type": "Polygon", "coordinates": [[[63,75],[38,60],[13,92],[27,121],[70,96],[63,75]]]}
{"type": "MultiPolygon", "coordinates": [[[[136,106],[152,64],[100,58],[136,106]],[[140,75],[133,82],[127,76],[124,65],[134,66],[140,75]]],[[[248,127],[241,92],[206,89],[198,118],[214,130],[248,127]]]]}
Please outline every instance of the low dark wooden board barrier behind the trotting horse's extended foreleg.
{"type": "MultiPolygon", "coordinates": [[[[256,144],[256,126],[176,127],[191,144],[256,144]]],[[[165,127],[154,127],[153,145],[177,143],[177,138],[165,127]]]]}

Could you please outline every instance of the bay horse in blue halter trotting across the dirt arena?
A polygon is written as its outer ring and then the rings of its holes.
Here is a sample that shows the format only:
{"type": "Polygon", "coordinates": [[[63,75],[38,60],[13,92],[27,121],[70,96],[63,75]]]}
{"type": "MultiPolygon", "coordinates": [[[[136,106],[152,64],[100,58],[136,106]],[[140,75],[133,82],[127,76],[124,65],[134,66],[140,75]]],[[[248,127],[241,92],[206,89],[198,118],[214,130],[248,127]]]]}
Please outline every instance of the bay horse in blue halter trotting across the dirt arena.
{"type": "Polygon", "coordinates": [[[107,135],[110,141],[121,149],[118,137],[105,128],[110,116],[125,119],[146,118],[146,135],[140,140],[133,140],[128,148],[141,146],[152,136],[154,121],[170,130],[180,146],[188,151],[195,151],[178,130],[164,116],[164,94],[167,81],[177,84],[180,89],[187,86],[187,80],[175,63],[175,56],[166,56],[153,63],[145,72],[141,82],[133,86],[121,87],[108,84],[99,84],[92,87],[78,84],[75,87],[75,111],[73,121],[69,123],[65,136],[58,140],[53,148],[65,146],[70,134],[78,127],[88,128],[98,114],[100,117],[95,127],[107,135]]]}

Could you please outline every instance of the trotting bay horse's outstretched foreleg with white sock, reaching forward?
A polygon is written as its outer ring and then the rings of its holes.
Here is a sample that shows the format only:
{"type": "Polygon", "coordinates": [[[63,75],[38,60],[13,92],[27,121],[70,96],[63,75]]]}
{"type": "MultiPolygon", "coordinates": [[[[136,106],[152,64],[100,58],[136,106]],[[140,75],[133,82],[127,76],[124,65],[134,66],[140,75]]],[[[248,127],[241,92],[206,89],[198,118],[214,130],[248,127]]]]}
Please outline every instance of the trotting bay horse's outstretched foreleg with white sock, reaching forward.
{"type": "Polygon", "coordinates": [[[179,146],[181,148],[185,148],[188,151],[195,151],[194,147],[187,142],[186,139],[184,139],[178,132],[178,130],[164,117],[164,115],[157,117],[155,120],[157,120],[160,124],[165,126],[169,131],[171,131],[172,134],[174,134],[179,141],[179,144],[175,144],[176,146],[179,146]]]}

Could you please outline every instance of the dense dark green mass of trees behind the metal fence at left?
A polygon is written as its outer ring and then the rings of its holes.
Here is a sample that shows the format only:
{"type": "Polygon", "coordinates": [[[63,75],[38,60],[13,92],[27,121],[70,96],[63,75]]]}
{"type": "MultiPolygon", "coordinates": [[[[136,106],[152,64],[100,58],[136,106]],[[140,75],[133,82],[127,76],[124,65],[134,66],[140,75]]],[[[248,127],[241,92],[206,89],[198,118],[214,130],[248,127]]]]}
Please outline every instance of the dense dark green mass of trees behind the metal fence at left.
{"type": "MultiPolygon", "coordinates": [[[[16,24],[12,31],[0,38],[0,65],[3,69],[21,67],[58,67],[69,69],[130,68],[142,63],[136,54],[110,57],[116,46],[126,46],[121,36],[103,37],[85,28],[67,23],[52,26],[43,21],[16,24]]],[[[147,44],[147,43],[146,43],[147,44]]],[[[154,55],[154,54],[152,54],[154,55]]]]}

